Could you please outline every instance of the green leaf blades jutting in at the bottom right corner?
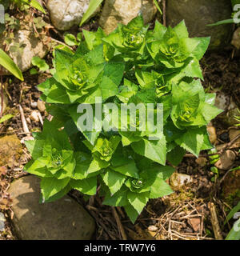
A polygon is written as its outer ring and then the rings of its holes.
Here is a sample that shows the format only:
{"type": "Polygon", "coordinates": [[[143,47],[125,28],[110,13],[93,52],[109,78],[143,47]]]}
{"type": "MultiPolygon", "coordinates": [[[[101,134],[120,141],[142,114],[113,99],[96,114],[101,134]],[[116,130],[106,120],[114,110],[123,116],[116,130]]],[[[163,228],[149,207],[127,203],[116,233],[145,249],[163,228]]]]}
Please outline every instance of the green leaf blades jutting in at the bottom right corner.
{"type": "Polygon", "coordinates": [[[226,236],[226,240],[240,240],[240,202],[235,206],[230,213],[226,216],[226,222],[229,222],[231,218],[234,217],[235,214],[238,214],[238,220],[234,223],[233,228],[230,230],[229,234],[226,236]]]}

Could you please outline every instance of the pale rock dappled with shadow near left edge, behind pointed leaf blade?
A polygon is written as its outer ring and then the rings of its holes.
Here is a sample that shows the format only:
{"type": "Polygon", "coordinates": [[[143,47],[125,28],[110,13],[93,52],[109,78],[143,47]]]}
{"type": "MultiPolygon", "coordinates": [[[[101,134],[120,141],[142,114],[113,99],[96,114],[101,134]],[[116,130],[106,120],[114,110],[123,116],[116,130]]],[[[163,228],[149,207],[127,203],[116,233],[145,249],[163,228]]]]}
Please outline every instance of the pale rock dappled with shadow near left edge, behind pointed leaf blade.
{"type": "MultiPolygon", "coordinates": [[[[5,38],[0,37],[0,48],[3,49],[3,41],[5,38]]],[[[9,49],[14,44],[19,44],[21,49],[9,50],[7,54],[10,58],[18,65],[22,72],[30,69],[32,66],[32,58],[38,56],[39,58],[44,58],[48,52],[48,48],[43,44],[43,42],[34,36],[34,33],[28,30],[19,30],[14,34],[14,38],[10,43],[9,49]]],[[[4,74],[10,74],[8,71],[4,71],[4,74]]]]}

